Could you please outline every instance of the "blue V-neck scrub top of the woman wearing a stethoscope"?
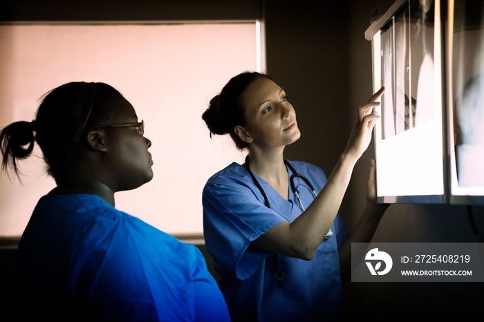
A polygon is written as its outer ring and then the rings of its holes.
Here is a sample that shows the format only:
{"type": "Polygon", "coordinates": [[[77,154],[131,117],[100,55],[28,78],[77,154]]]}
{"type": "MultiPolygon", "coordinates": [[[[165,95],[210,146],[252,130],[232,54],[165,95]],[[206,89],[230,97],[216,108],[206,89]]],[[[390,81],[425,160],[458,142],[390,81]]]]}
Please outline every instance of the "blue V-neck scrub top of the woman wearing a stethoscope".
{"type": "MultiPolygon", "coordinates": [[[[290,162],[306,176],[316,193],[326,184],[318,167],[290,162]]],[[[288,169],[288,176],[292,175],[288,169]]],[[[302,212],[289,189],[284,199],[254,173],[271,208],[245,167],[232,163],[207,181],[203,189],[203,228],[207,252],[221,276],[232,321],[323,321],[342,316],[342,284],[337,249],[346,238],[339,215],[311,261],[279,255],[279,271],[286,274],[281,289],[274,277],[274,254],[250,246],[250,242],[280,222],[292,222],[302,212]]],[[[314,200],[304,181],[295,178],[305,208],[314,200]]]]}

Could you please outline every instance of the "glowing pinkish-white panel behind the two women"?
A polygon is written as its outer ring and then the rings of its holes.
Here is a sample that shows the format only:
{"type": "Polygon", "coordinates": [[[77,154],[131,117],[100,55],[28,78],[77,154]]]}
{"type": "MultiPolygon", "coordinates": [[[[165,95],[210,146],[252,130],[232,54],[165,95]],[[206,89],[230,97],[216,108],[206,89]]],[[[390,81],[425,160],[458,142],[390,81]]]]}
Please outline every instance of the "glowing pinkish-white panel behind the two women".
{"type": "MultiPolygon", "coordinates": [[[[33,120],[39,97],[66,82],[114,86],[145,120],[154,161],[153,180],[116,193],[116,207],[169,234],[200,234],[203,185],[244,156],[230,138],[210,139],[201,115],[230,77],[260,69],[256,21],[3,25],[0,128],[33,120]]],[[[55,186],[41,158],[20,167],[21,183],[0,177],[0,236],[21,235],[55,186]]]]}

